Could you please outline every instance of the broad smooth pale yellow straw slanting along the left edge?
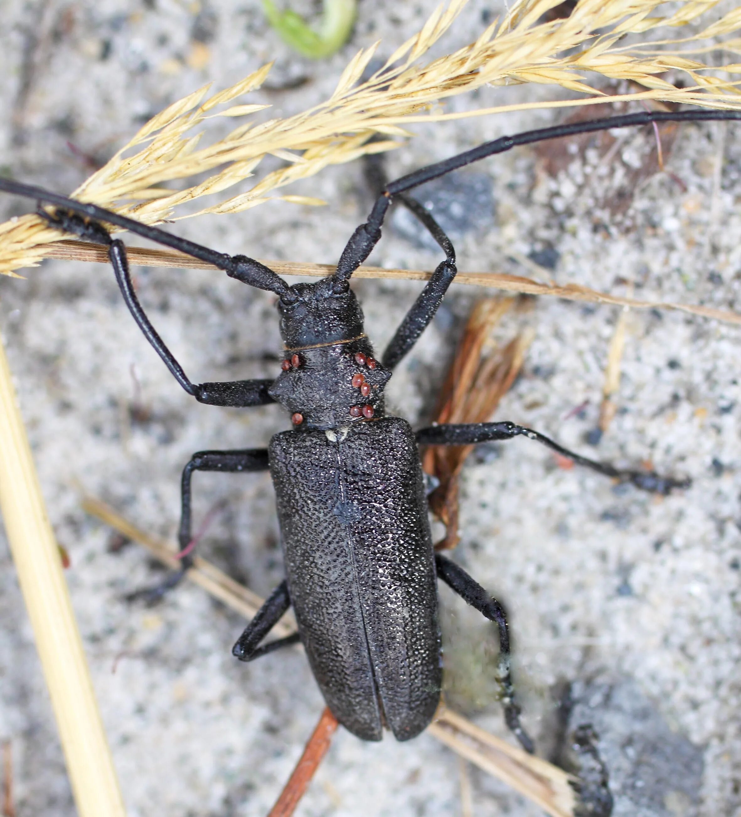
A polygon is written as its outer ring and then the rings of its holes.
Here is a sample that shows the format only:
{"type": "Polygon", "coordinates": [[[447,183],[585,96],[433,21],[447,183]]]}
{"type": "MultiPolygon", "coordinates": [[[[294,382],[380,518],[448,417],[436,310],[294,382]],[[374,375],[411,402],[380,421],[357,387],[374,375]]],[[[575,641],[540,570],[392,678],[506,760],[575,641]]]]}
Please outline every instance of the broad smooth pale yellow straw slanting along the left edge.
{"type": "Polygon", "coordinates": [[[123,817],[60,551],[0,342],[0,510],[51,696],[80,817],[123,817]]]}

